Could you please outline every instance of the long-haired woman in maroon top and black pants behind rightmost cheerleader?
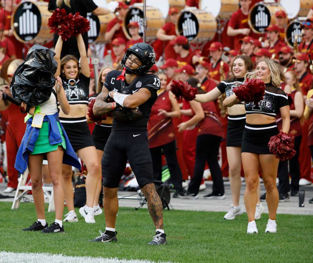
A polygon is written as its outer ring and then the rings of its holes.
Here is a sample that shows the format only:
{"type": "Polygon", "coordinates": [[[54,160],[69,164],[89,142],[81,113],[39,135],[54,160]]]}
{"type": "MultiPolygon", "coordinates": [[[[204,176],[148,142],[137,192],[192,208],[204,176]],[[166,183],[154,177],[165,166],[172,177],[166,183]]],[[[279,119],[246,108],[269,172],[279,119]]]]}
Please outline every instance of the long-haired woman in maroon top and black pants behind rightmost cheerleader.
{"type": "MultiPolygon", "coordinates": [[[[290,133],[295,136],[295,151],[296,154],[289,161],[280,161],[278,164],[278,178],[279,178],[279,201],[285,202],[289,199],[288,192],[291,188],[291,196],[297,196],[299,191],[300,180],[300,166],[299,166],[299,149],[302,138],[301,120],[303,114],[303,96],[301,88],[299,86],[299,80],[295,71],[287,71],[285,73],[286,86],[284,91],[290,93],[294,103],[290,106],[290,133]],[[288,171],[289,163],[289,171],[288,171]],[[291,183],[289,186],[289,173],[291,177],[291,183]]],[[[282,119],[278,118],[278,129],[282,129],[282,119]]]]}

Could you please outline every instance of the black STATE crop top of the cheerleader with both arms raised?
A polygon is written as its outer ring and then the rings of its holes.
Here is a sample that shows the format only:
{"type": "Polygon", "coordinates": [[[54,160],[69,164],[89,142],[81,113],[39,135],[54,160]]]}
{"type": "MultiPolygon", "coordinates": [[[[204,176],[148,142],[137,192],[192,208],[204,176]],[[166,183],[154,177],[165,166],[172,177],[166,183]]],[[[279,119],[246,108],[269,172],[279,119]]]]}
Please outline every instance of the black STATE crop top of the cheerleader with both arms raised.
{"type": "Polygon", "coordinates": [[[69,104],[88,105],[90,77],[80,73],[78,80],[63,78],[63,88],[69,104]]]}

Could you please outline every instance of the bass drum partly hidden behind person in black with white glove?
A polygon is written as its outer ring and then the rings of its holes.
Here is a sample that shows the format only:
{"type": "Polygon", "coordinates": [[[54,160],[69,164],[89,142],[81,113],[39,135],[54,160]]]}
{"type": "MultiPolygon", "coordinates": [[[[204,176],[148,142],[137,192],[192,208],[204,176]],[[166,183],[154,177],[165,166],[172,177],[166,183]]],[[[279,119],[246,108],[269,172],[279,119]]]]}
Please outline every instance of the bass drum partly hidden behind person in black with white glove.
{"type": "Polygon", "coordinates": [[[90,29],[88,31],[88,43],[104,43],[104,34],[108,23],[114,18],[113,13],[109,13],[104,16],[96,16],[92,13],[87,14],[87,19],[90,23],[90,29]]]}

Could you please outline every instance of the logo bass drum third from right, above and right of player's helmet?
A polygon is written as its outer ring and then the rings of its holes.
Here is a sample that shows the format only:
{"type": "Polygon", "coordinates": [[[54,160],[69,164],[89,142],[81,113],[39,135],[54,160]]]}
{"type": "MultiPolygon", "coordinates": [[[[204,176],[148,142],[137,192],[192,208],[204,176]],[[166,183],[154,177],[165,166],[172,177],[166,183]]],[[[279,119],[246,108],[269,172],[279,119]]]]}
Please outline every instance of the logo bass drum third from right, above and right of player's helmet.
{"type": "Polygon", "coordinates": [[[197,8],[183,9],[176,24],[178,34],[198,43],[213,39],[216,30],[217,23],[213,14],[197,8]]]}

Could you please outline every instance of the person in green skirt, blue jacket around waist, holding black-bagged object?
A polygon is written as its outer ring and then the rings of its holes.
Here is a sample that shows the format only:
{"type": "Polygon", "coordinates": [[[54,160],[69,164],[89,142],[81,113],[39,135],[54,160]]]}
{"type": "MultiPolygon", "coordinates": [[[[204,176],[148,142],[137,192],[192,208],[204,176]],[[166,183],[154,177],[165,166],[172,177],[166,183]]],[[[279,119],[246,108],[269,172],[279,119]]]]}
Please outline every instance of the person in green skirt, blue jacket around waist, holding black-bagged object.
{"type": "MultiPolygon", "coordinates": [[[[45,57],[42,56],[41,59],[45,60],[45,57]]],[[[47,62],[43,61],[43,63],[47,62]]],[[[62,124],[60,124],[58,102],[64,114],[68,115],[70,107],[60,77],[56,77],[50,98],[39,106],[36,106],[36,109],[34,106],[27,107],[23,102],[21,104],[23,108],[29,108],[28,113],[31,114],[31,117],[27,120],[25,134],[18,149],[14,167],[21,174],[28,167],[38,218],[36,222],[28,228],[24,228],[23,231],[42,231],[42,233],[64,232],[62,224],[64,192],[62,188],[61,164],[63,162],[80,169],[80,163],[62,124]],[[34,113],[35,110],[36,114],[34,113]],[[37,113],[39,114],[37,115],[37,113]],[[35,118],[37,121],[35,121],[35,118]],[[48,168],[54,191],[55,220],[49,227],[45,219],[44,192],[42,189],[42,163],[44,159],[47,159],[49,162],[48,168]]]]}

